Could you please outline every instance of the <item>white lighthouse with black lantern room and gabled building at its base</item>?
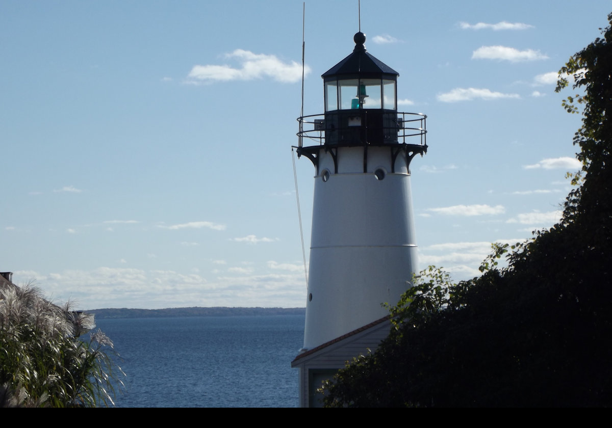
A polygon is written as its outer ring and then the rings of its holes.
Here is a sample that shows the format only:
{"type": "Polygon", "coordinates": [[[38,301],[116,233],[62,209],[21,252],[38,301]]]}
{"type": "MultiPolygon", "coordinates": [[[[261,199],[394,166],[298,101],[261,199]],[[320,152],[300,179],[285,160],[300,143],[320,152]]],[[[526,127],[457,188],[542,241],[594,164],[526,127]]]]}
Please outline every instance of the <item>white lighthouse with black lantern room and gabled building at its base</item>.
{"type": "Polygon", "coordinates": [[[321,378],[386,336],[381,304],[397,303],[416,270],[410,163],[427,152],[426,116],[397,111],[398,73],[365,50],[365,34],[354,42],[322,75],[325,113],[298,119],[297,154],[316,172],[304,349],[292,363],[303,406],[321,378]],[[340,350],[349,338],[359,344],[340,350]]]}

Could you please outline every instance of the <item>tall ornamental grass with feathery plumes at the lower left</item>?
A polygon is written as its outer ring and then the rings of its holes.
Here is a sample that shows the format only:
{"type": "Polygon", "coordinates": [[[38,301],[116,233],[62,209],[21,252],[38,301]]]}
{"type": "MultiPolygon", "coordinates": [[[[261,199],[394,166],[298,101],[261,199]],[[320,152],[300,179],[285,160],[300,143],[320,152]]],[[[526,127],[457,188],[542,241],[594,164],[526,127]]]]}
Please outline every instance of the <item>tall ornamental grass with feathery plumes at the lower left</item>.
{"type": "Polygon", "coordinates": [[[32,286],[0,284],[0,407],[113,405],[122,375],[101,331],[78,336],[89,315],[50,303],[32,286]]]}

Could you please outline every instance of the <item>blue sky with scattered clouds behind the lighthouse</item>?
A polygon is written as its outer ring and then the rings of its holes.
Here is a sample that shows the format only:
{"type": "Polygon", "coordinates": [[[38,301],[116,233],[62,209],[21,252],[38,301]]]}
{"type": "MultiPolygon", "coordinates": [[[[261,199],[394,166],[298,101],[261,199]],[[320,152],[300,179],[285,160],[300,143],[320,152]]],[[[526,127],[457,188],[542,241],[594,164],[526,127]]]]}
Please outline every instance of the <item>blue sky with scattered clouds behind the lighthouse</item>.
{"type": "MultiPolygon", "coordinates": [[[[411,163],[419,266],[472,278],[553,226],[580,115],[559,68],[608,1],[362,1],[411,163]]],[[[305,2],[304,114],[354,48],[357,1],[305,2]]],[[[0,271],[79,309],[304,307],[291,146],[302,1],[0,2],[0,271]]],[[[306,257],[312,163],[295,159],[306,257]]]]}

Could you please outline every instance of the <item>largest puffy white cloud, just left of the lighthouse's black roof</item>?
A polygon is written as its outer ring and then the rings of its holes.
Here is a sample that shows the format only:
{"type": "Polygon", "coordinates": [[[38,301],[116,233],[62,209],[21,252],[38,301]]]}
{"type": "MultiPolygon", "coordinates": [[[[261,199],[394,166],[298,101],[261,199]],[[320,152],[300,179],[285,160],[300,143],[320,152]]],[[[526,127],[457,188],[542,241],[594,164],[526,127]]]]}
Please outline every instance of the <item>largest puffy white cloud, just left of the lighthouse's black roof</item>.
{"type": "MultiPolygon", "coordinates": [[[[302,64],[295,61],[283,62],[275,55],[255,54],[236,49],[226,54],[227,59],[239,62],[239,67],[231,65],[194,65],[187,76],[188,83],[212,83],[215,81],[253,80],[264,77],[282,83],[295,83],[302,79],[302,64]]],[[[304,74],[310,67],[304,67],[304,74]]]]}

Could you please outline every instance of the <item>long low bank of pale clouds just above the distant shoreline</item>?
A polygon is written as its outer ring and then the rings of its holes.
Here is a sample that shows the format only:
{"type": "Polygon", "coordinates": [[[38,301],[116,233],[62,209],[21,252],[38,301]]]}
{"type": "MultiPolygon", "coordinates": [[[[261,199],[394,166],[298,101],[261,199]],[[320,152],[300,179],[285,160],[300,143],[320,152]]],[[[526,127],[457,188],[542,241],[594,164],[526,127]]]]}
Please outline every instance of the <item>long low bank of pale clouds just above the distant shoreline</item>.
{"type": "MultiPolygon", "coordinates": [[[[269,268],[263,267],[269,271],[269,268]]],[[[75,302],[75,309],[185,308],[190,306],[304,307],[304,271],[259,275],[245,273],[213,281],[191,269],[171,270],[100,267],[56,273],[15,271],[17,282],[35,278],[54,301],[75,302]]]]}

